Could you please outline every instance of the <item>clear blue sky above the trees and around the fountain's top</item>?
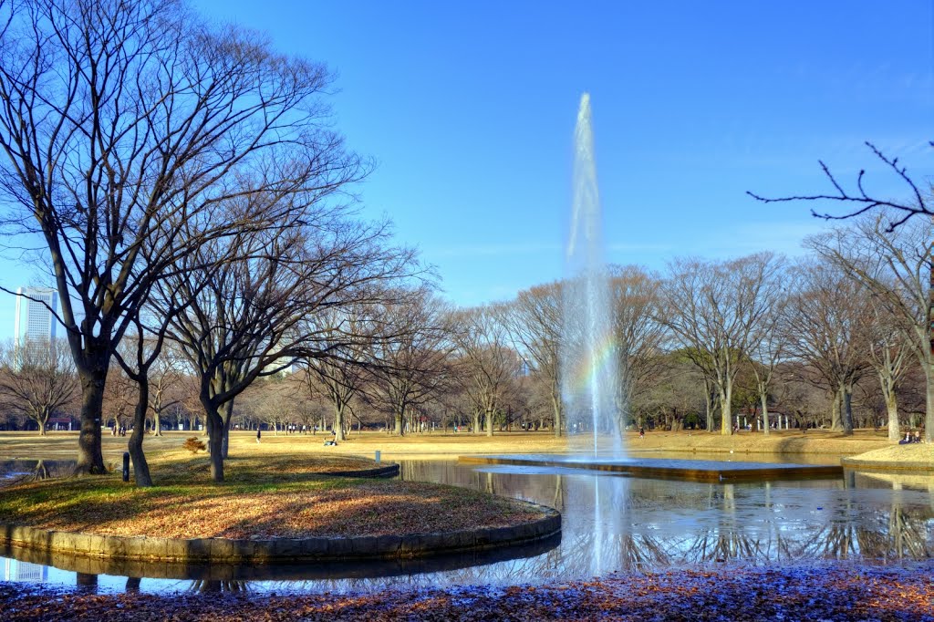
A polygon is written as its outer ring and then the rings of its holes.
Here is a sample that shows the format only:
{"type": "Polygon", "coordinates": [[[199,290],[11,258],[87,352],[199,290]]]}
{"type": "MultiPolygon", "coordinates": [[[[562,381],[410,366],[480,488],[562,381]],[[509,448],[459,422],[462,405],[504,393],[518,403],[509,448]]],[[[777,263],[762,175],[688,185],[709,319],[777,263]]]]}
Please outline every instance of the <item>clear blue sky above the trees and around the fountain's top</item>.
{"type": "MultiPolygon", "coordinates": [[[[934,175],[927,0],[194,6],[333,70],[335,124],[378,163],[358,189],[364,213],[389,215],[457,304],[561,276],[585,91],[611,262],[797,253],[824,223],[745,191],[828,191],[823,159],[898,195],[866,140],[934,175]]],[[[13,305],[0,304],[0,335],[13,305]]]]}

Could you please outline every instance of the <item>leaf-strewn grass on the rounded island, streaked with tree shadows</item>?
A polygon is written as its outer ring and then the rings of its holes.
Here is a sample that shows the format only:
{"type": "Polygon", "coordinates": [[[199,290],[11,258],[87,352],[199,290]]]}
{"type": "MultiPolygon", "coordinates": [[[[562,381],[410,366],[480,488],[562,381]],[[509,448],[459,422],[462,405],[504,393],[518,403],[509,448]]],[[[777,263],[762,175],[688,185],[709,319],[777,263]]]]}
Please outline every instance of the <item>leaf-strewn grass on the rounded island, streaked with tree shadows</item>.
{"type": "Polygon", "coordinates": [[[118,474],[24,482],[0,490],[0,516],[49,530],[183,539],[404,535],[509,527],[543,516],[464,488],[334,475],[373,468],[372,460],[262,455],[225,464],[220,485],[203,457],[177,453],[152,461],[152,488],[118,474]]]}

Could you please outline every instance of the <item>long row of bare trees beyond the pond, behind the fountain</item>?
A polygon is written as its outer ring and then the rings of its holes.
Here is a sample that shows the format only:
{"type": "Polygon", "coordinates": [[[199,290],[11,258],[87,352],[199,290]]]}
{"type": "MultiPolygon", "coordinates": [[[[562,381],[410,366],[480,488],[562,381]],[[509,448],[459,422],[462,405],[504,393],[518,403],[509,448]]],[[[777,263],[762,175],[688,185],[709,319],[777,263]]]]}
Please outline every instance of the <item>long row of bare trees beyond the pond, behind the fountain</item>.
{"type": "MultiPolygon", "coordinates": [[[[861,248],[865,257],[867,245],[881,236],[888,250],[875,256],[876,263],[891,265],[885,257],[898,257],[899,247],[900,256],[923,258],[925,234],[913,225],[887,232],[878,219],[866,219],[808,244],[816,250],[845,239],[846,248],[861,248]],[[914,250],[906,250],[911,244],[914,250]]],[[[898,438],[899,420],[915,425],[916,415],[926,412],[927,382],[913,356],[918,348],[912,348],[912,336],[923,334],[923,326],[915,321],[912,329],[899,320],[896,309],[851,276],[847,265],[820,253],[796,263],[760,253],[729,262],[678,260],[664,276],[614,268],[624,423],[713,430],[719,419],[722,431],[742,411],[760,418],[768,433],[774,409],[779,427],[788,425],[789,415],[795,425],[827,421],[844,432],[887,420],[891,437],[898,438]],[[861,411],[856,415],[854,396],[861,411]]],[[[921,293],[924,266],[914,267],[921,293]]],[[[339,440],[354,423],[395,433],[456,422],[488,434],[517,424],[561,433],[561,289],[552,283],[507,303],[457,310],[422,288],[394,292],[393,300],[373,307],[375,314],[367,314],[365,304],[344,308],[347,313],[319,310],[303,319],[317,318],[318,355],[280,352],[263,369],[252,368],[256,378],[276,378],[299,361],[302,371],[289,381],[245,383],[248,395],[239,407],[227,402],[224,425],[229,430],[234,420],[274,427],[301,421],[306,429],[333,428],[339,440]]],[[[916,313],[923,317],[924,310],[916,313]]],[[[303,343],[310,334],[306,327],[303,343]]],[[[185,347],[191,346],[165,348],[157,360],[185,347]]],[[[181,374],[189,397],[173,399],[197,409],[191,392],[198,392],[204,376],[192,370],[181,374]]],[[[166,377],[164,371],[153,374],[153,386],[162,387],[166,377]]],[[[159,403],[150,398],[150,413],[160,411],[159,403]]]]}

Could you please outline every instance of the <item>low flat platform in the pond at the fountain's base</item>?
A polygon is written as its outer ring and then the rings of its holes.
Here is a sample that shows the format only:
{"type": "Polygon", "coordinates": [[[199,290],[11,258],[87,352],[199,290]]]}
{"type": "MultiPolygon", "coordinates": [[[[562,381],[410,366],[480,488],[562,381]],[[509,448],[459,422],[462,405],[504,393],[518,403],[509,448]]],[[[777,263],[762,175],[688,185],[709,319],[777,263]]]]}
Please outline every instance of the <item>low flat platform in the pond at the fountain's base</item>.
{"type": "Polygon", "coordinates": [[[682,479],[694,482],[755,482],[777,479],[835,479],[843,467],[824,464],[770,464],[767,462],[720,462],[680,459],[609,459],[600,456],[527,454],[460,456],[464,464],[510,464],[516,466],[587,469],[633,477],[682,479]]]}

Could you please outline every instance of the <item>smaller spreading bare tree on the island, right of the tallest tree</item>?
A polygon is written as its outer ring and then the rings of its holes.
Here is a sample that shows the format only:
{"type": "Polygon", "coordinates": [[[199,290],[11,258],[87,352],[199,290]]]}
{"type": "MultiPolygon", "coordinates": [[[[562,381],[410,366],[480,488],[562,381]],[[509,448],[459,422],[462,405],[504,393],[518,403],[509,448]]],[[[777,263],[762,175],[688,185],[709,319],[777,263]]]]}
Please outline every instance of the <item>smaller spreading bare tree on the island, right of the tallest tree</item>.
{"type": "MultiPolygon", "coordinates": [[[[205,245],[181,260],[186,269],[177,277],[160,284],[163,314],[177,309],[177,296],[186,301],[169,335],[200,379],[211,473],[218,482],[233,399],[256,378],[275,375],[299,358],[337,356],[338,333],[306,318],[383,304],[392,284],[419,270],[410,250],[389,247],[386,223],[348,219],[343,208],[319,205],[317,198],[301,214],[304,226],[225,240],[242,259],[205,269],[208,257],[230,255],[205,245]],[[202,287],[192,285],[199,282],[203,288],[192,289],[202,287]]],[[[344,337],[353,345],[354,335],[344,337]]]]}

